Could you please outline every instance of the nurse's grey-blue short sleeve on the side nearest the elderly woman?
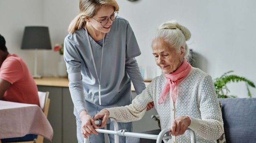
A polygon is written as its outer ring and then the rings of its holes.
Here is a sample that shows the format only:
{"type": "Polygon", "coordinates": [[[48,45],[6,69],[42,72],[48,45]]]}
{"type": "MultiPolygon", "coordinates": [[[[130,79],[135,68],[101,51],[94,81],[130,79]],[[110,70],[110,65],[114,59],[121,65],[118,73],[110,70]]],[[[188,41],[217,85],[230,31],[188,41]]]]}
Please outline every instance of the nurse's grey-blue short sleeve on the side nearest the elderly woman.
{"type": "Polygon", "coordinates": [[[134,58],[141,54],[139,45],[130,24],[126,29],[126,58],[134,58]]]}

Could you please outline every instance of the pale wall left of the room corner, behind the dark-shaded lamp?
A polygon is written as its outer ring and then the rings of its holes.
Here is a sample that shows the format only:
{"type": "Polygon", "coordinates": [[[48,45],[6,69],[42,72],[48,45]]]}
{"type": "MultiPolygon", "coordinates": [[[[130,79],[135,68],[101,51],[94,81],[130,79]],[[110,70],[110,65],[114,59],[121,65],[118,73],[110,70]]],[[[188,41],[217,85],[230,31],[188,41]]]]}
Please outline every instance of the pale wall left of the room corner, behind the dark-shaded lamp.
{"type": "MultiPolygon", "coordinates": [[[[0,0],[0,34],[9,53],[18,54],[34,73],[34,50],[21,50],[25,26],[43,25],[43,0],[0,0]]],[[[37,73],[43,74],[43,51],[38,51],[37,73]]]]}

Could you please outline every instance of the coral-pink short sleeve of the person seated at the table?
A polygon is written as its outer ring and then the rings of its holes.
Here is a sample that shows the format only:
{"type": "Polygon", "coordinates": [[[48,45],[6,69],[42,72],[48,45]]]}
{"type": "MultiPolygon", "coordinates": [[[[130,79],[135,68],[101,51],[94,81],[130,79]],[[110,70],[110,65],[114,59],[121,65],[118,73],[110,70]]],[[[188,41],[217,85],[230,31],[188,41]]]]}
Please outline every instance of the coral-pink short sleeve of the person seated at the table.
{"type": "Polygon", "coordinates": [[[0,68],[0,78],[13,84],[23,77],[23,67],[17,59],[6,59],[0,68]]]}

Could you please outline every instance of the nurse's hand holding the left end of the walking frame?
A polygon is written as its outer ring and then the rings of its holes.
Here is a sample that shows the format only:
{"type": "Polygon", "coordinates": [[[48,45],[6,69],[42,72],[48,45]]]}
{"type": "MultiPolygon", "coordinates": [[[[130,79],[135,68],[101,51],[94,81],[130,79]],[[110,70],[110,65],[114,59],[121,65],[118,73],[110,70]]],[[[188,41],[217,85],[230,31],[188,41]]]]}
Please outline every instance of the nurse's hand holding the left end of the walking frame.
{"type": "Polygon", "coordinates": [[[79,116],[82,122],[81,134],[83,137],[87,138],[92,134],[98,135],[98,132],[94,130],[94,128],[98,127],[95,125],[93,118],[85,110],[80,112],[79,116]]]}

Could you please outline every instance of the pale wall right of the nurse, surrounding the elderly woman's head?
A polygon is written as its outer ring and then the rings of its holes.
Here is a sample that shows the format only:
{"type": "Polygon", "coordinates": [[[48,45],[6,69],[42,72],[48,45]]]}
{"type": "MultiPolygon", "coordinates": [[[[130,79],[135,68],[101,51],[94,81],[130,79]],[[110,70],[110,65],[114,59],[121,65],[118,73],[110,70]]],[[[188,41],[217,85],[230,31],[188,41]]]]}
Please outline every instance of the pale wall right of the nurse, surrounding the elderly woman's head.
{"type": "MultiPolygon", "coordinates": [[[[157,27],[178,20],[192,33],[189,47],[199,54],[197,66],[213,78],[234,70],[256,83],[256,1],[254,0],[117,0],[141,48],[140,65],[154,65],[150,48],[157,27]]],[[[247,97],[245,84],[229,84],[231,94],[247,97]]],[[[253,97],[256,90],[251,89],[253,97]]]]}

